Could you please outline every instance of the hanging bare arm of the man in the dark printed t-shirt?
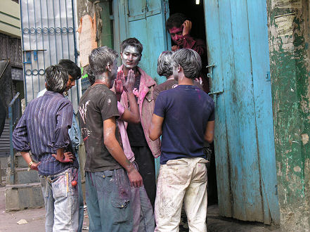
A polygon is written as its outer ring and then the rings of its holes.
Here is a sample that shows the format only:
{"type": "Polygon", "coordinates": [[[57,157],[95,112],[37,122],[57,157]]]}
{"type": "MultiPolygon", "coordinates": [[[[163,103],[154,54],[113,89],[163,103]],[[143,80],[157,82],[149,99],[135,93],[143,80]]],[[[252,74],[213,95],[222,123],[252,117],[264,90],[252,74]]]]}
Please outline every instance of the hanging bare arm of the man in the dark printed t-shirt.
{"type": "Polygon", "coordinates": [[[115,138],[115,117],[110,117],[103,121],[103,138],[105,147],[113,158],[126,169],[131,186],[140,187],[143,185],[142,177],[134,168],[134,165],[127,160],[127,157],[122,150],[120,143],[115,138]]]}

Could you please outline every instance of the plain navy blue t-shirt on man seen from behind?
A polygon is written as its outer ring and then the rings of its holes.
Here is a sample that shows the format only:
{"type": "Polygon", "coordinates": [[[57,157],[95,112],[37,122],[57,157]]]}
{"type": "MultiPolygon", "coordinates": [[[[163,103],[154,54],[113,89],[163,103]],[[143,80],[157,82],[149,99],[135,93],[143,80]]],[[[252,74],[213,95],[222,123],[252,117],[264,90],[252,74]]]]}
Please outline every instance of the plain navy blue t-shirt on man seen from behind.
{"type": "Polygon", "coordinates": [[[160,164],[183,157],[204,157],[207,122],[214,120],[212,98],[197,86],[179,85],[157,96],[154,114],[164,117],[160,164]]]}

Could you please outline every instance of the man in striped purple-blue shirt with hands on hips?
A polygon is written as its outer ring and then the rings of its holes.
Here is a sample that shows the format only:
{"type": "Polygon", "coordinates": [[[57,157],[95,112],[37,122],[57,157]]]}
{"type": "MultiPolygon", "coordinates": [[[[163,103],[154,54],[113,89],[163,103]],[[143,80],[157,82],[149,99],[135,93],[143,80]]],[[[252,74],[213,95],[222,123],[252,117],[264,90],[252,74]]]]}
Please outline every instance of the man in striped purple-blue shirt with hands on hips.
{"type": "Polygon", "coordinates": [[[68,135],[73,107],[63,96],[67,81],[63,66],[46,68],[46,93],[27,105],[13,132],[15,150],[30,169],[39,171],[46,210],[45,231],[49,232],[77,231],[79,222],[78,190],[72,184],[79,165],[72,155],[68,135]]]}

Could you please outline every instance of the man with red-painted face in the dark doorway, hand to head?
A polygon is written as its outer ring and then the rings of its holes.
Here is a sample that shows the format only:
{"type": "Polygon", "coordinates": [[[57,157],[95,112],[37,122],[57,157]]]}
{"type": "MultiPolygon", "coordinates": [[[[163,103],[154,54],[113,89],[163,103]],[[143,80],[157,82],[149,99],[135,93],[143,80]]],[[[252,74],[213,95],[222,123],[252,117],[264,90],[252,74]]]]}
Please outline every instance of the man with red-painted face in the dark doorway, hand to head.
{"type": "Polygon", "coordinates": [[[172,41],[176,45],[172,46],[172,51],[179,49],[193,49],[196,51],[202,60],[202,70],[200,73],[200,84],[206,93],[209,93],[209,81],[207,79],[207,46],[205,41],[190,36],[192,29],[192,22],[188,20],[183,13],[174,13],[171,15],[167,22],[166,28],[171,35],[172,41]]]}

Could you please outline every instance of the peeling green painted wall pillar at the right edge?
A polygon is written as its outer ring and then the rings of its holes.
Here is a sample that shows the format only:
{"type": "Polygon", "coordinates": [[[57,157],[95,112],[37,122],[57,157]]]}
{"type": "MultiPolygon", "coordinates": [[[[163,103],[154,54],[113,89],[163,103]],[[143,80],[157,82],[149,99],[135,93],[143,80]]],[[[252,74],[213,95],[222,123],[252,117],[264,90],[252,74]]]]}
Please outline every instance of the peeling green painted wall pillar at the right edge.
{"type": "Polygon", "coordinates": [[[310,229],[309,1],[268,0],[280,225],[310,229]]]}

